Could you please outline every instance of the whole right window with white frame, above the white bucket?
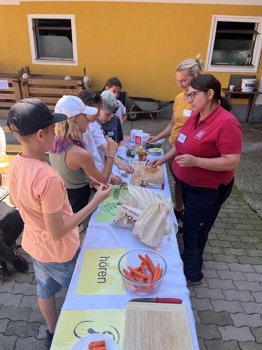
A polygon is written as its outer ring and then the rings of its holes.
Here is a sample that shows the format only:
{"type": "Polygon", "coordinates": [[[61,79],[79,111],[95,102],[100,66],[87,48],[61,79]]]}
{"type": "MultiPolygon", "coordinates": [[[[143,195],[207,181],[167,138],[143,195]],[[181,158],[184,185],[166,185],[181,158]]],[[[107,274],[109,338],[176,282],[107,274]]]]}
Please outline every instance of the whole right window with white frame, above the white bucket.
{"type": "Polygon", "coordinates": [[[262,17],[214,15],[207,71],[257,72],[262,45],[262,17]]]}

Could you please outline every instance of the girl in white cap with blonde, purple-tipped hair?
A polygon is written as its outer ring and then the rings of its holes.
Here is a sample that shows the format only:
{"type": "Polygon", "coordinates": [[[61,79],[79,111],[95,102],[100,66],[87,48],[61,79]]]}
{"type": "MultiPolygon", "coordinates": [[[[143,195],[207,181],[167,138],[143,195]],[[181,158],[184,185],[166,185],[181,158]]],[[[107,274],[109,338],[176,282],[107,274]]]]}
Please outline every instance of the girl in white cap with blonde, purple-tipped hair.
{"type": "Polygon", "coordinates": [[[86,106],[79,97],[64,96],[55,105],[55,112],[68,118],[55,125],[55,142],[49,160],[64,181],[73,212],[79,212],[88,204],[90,180],[96,184],[109,182],[118,144],[108,138],[105,166],[100,172],[82,137],[89,123],[87,115],[95,118],[99,110],[86,106]]]}

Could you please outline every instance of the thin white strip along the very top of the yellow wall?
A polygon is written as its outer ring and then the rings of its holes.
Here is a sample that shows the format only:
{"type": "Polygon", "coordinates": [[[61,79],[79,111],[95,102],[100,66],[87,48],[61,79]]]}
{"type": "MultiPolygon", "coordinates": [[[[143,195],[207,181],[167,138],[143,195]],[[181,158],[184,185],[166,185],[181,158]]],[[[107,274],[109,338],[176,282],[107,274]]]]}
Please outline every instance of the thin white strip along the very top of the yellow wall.
{"type": "MultiPolygon", "coordinates": [[[[46,2],[46,0],[0,0],[0,5],[19,5],[21,2],[46,2]]],[[[196,3],[198,5],[247,5],[262,6],[262,0],[49,0],[58,1],[92,1],[92,2],[134,2],[134,3],[196,3]]]]}

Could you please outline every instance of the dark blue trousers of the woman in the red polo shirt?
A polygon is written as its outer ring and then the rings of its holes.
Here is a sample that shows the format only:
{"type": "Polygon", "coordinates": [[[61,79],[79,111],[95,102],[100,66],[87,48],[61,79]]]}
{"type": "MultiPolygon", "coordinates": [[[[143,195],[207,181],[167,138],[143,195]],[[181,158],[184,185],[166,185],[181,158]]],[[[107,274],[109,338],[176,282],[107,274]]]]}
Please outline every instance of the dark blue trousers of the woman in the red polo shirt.
{"type": "Polygon", "coordinates": [[[231,194],[234,179],[228,184],[220,184],[217,190],[196,187],[181,182],[185,211],[183,216],[184,273],[187,279],[202,279],[203,252],[209,231],[218,216],[224,201],[231,194]]]}

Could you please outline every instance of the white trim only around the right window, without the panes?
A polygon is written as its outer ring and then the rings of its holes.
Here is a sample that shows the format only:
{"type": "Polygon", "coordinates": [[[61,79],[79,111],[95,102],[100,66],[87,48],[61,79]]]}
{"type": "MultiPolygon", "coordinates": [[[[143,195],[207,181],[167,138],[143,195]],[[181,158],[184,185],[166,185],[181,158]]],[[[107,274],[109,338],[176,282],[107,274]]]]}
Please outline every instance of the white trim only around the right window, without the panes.
{"type": "MultiPolygon", "coordinates": [[[[262,0],[261,0],[262,3],[262,0]]],[[[212,72],[243,72],[243,73],[257,73],[259,68],[259,59],[261,55],[261,47],[262,47],[262,17],[258,16],[226,16],[220,14],[213,14],[211,30],[209,35],[209,46],[207,49],[207,59],[205,71],[212,72]],[[254,55],[252,60],[252,67],[248,66],[213,66],[211,65],[211,58],[213,54],[213,45],[215,41],[215,32],[218,21],[226,21],[226,22],[259,22],[259,38],[257,38],[256,45],[254,47],[254,55]]]]}

